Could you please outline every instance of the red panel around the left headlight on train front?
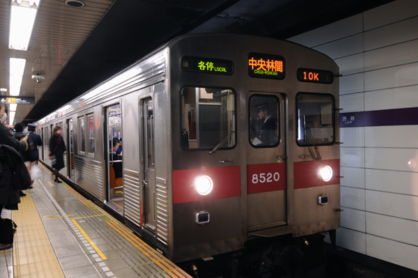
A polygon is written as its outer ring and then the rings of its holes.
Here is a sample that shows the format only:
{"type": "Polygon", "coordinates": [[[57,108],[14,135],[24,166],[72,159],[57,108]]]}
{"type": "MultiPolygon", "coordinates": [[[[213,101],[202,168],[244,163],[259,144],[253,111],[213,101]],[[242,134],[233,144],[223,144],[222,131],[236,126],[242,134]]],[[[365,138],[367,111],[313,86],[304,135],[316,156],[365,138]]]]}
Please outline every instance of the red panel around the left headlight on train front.
{"type": "Polygon", "coordinates": [[[241,196],[240,167],[219,167],[173,171],[173,203],[221,199],[241,196]],[[196,176],[206,175],[213,180],[213,190],[202,196],[192,187],[196,176]]]}

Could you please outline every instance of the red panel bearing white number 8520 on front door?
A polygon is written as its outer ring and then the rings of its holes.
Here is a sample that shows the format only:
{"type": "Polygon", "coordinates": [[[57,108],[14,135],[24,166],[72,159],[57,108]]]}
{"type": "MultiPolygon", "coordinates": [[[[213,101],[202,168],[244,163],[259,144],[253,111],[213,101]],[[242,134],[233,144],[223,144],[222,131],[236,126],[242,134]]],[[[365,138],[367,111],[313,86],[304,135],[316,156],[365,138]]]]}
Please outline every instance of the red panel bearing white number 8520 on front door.
{"type": "Polygon", "coordinates": [[[286,190],[286,164],[247,165],[247,194],[286,190]]]}

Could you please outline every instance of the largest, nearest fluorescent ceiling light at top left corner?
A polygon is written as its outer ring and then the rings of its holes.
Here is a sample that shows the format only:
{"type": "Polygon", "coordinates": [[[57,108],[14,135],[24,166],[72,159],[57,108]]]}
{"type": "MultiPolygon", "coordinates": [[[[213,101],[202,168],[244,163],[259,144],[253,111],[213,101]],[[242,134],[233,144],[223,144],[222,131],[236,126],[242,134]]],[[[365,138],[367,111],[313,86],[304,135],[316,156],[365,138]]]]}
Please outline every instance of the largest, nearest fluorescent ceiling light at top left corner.
{"type": "Polygon", "coordinates": [[[9,48],[27,50],[40,0],[12,0],[9,48]]]}

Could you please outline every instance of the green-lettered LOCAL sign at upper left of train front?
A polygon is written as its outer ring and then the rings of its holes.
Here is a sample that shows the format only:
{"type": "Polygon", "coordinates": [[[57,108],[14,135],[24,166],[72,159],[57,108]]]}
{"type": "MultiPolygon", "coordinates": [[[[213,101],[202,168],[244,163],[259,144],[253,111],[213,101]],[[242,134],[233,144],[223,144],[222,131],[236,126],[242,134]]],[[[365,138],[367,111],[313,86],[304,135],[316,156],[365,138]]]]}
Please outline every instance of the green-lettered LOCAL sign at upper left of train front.
{"type": "Polygon", "coordinates": [[[228,60],[184,56],[182,68],[189,72],[212,73],[215,75],[232,75],[233,63],[228,60]]]}

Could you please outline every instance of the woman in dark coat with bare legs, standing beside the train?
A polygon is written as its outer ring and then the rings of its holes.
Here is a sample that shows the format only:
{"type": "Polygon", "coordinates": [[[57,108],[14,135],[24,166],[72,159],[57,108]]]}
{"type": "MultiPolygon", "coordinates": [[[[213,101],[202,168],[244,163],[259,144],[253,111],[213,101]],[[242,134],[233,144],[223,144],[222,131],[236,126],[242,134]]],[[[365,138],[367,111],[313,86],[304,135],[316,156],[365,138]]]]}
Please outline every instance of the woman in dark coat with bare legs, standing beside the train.
{"type": "Polygon", "coordinates": [[[52,131],[52,136],[49,139],[49,150],[51,150],[49,159],[52,162],[52,168],[55,170],[54,182],[62,183],[62,181],[58,179],[58,172],[65,167],[64,154],[67,153],[67,151],[63,137],[61,137],[61,126],[59,125],[56,125],[52,131]]]}

